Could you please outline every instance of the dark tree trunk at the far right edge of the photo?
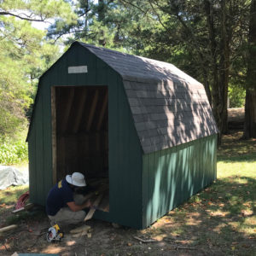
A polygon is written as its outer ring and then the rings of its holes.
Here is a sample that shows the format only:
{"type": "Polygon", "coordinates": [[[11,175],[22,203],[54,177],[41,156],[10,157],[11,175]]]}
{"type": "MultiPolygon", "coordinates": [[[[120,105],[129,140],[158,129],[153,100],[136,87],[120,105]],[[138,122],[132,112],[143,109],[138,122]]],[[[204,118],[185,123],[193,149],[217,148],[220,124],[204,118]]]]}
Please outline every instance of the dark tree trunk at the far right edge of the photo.
{"type": "Polygon", "coordinates": [[[256,0],[252,0],[248,35],[247,92],[243,137],[256,137],[256,0]]]}

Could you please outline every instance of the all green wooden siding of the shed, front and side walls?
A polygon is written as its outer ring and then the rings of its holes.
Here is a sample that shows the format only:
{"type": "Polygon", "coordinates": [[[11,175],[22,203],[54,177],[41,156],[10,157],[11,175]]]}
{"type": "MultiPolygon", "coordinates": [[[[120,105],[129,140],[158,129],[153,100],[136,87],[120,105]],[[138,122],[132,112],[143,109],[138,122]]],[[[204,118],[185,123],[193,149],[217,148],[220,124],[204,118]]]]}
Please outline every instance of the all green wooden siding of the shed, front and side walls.
{"type": "Polygon", "coordinates": [[[53,184],[51,87],[108,86],[109,212],[95,218],[142,229],[216,179],[216,137],[143,154],[123,81],[104,61],[76,44],[39,82],[28,136],[30,197],[44,205],[53,184]],[[88,67],[68,74],[67,67],[88,67]]]}

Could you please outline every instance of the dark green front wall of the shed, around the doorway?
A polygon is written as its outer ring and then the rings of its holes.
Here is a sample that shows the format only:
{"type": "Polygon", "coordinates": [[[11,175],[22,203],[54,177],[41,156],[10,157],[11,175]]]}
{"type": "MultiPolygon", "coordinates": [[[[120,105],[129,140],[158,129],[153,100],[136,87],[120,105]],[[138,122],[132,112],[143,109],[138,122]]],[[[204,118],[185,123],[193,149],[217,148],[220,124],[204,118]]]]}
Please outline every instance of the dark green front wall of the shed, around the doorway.
{"type": "Polygon", "coordinates": [[[109,213],[106,219],[134,228],[142,227],[142,148],[131,116],[122,79],[84,47],[67,51],[44,73],[39,82],[32,125],[28,136],[30,193],[44,205],[52,182],[51,87],[108,85],[109,213]],[[67,67],[88,67],[88,73],[68,74],[67,67]]]}

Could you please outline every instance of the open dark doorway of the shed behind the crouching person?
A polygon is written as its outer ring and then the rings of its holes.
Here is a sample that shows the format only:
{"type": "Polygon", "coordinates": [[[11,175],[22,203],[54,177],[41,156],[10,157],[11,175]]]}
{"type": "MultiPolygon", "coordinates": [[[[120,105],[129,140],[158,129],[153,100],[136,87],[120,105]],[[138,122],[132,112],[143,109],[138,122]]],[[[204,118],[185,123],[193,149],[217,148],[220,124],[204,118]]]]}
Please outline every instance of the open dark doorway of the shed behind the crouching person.
{"type": "Polygon", "coordinates": [[[54,182],[83,173],[108,212],[108,86],[53,87],[52,126],[54,182]]]}

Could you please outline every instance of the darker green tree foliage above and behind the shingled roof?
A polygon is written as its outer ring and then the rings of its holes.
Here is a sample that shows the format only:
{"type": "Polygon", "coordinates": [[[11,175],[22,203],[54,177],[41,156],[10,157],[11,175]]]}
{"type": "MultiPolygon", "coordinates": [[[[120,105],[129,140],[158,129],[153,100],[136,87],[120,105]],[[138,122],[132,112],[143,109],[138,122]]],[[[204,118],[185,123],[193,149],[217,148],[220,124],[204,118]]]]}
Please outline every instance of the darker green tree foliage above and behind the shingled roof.
{"type": "MultiPolygon", "coordinates": [[[[63,20],[56,20],[48,36],[58,40],[66,35],[66,44],[79,39],[172,62],[205,84],[208,96],[212,90],[224,91],[220,87],[227,84],[221,81],[230,78],[230,104],[241,107],[247,67],[244,56],[249,3],[79,0],[74,8],[79,16],[77,23],[67,26],[63,20]],[[224,41],[229,48],[226,54],[224,41]],[[224,56],[228,61],[224,61],[224,56]],[[224,67],[224,63],[229,63],[230,67],[224,67]],[[230,70],[230,77],[226,70],[230,70]]],[[[223,102],[222,96],[218,100],[223,102]]],[[[216,101],[215,98],[213,102],[216,101]]]]}

